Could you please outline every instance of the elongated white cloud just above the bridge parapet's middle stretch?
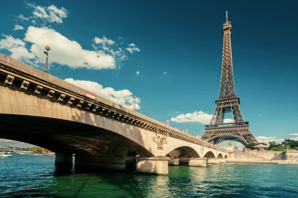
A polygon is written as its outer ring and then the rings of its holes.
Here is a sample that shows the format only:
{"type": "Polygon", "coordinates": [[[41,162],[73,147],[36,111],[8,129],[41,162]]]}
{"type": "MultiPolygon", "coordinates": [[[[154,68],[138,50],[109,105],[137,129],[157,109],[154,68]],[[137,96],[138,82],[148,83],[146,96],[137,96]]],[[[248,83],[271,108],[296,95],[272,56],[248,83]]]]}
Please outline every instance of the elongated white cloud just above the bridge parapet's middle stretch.
{"type": "MultiPolygon", "coordinates": [[[[129,90],[120,90],[115,91],[111,87],[103,88],[102,85],[92,82],[92,81],[84,81],[84,80],[74,80],[72,78],[67,78],[65,81],[72,83],[82,89],[88,90],[96,95],[99,95],[103,98],[109,99],[113,102],[116,102],[120,105],[126,106],[130,109],[134,108],[134,97],[133,93],[129,90]]],[[[136,98],[136,109],[140,109],[138,103],[141,102],[141,99],[136,98]]]]}

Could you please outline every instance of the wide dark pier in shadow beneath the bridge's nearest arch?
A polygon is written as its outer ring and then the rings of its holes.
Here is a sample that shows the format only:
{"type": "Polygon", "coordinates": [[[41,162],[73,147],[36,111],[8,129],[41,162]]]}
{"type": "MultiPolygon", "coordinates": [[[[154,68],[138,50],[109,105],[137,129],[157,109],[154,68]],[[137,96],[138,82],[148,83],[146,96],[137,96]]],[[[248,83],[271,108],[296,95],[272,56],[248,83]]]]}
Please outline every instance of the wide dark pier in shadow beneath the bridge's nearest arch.
{"type": "Polygon", "coordinates": [[[111,155],[78,154],[75,155],[74,165],[94,168],[107,168],[113,170],[125,170],[125,157],[111,155]]]}

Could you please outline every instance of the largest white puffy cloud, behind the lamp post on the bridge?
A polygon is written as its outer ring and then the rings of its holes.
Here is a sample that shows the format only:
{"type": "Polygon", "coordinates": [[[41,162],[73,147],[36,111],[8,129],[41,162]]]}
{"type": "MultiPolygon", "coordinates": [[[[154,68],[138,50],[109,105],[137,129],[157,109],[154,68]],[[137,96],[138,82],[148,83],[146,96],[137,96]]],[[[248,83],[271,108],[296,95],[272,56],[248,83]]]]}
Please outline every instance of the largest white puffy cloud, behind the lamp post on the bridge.
{"type": "MultiPolygon", "coordinates": [[[[82,49],[79,43],[71,41],[60,33],[47,27],[28,27],[24,41],[31,43],[30,50],[25,47],[25,43],[12,36],[3,35],[0,40],[0,49],[7,49],[11,52],[12,58],[27,60],[33,66],[44,64],[44,47],[49,45],[49,64],[51,62],[60,65],[68,65],[71,68],[85,67],[88,69],[114,69],[116,64],[125,60],[127,56],[121,48],[114,51],[109,46],[93,45],[95,50],[82,49]]],[[[94,39],[95,41],[95,39],[94,39]]],[[[105,40],[105,43],[112,43],[105,40]]]]}

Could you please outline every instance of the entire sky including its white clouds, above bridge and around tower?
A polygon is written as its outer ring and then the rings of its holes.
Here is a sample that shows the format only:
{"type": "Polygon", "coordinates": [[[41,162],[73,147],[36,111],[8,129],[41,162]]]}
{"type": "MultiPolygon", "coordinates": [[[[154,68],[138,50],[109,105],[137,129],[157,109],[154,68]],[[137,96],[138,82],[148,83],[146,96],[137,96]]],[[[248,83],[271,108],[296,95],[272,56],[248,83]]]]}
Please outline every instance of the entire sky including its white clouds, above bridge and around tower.
{"type": "Polygon", "coordinates": [[[130,108],[137,96],[138,112],[161,122],[170,114],[171,126],[202,135],[219,94],[228,10],[244,120],[262,142],[298,140],[297,5],[3,1],[0,52],[43,70],[49,45],[48,73],[130,108]]]}

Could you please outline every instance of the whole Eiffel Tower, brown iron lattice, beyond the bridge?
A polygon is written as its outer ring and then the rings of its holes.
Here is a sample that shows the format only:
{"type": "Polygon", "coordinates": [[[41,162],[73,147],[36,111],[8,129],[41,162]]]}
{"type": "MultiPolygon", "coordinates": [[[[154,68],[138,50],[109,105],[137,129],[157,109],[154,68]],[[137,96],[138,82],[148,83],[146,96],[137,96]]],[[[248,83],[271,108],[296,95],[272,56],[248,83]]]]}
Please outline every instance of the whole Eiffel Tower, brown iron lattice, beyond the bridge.
{"type": "Polygon", "coordinates": [[[231,22],[227,20],[223,25],[224,48],[223,66],[219,99],[217,99],[214,114],[210,124],[205,126],[202,140],[218,145],[224,141],[237,141],[244,146],[250,143],[258,143],[249,131],[248,122],[244,122],[236,96],[233,77],[232,49],[231,49],[231,22]],[[234,122],[224,123],[224,114],[232,112],[234,122]]]}

